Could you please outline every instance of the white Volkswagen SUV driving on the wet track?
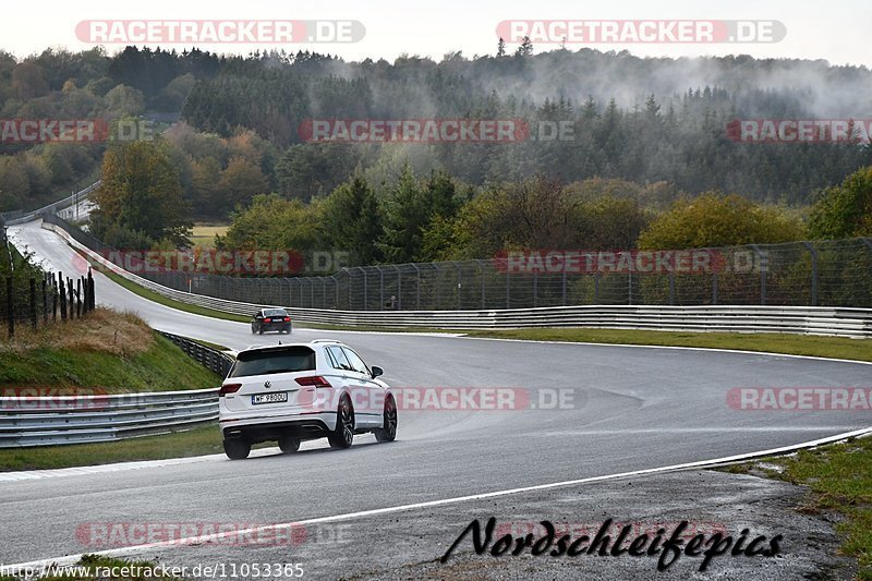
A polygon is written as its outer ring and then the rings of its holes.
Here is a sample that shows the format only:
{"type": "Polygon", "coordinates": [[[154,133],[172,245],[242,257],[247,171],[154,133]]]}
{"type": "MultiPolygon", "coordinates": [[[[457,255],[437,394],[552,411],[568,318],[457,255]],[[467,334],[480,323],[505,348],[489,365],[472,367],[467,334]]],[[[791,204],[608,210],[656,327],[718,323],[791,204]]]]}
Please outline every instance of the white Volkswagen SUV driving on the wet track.
{"type": "Polygon", "coordinates": [[[252,445],[277,440],[286,453],[327,437],[348,448],[354,434],[397,437],[397,400],[382,367],[367,367],[339,341],[316,340],[240,351],[218,394],[225,452],[241,460],[252,445]]]}

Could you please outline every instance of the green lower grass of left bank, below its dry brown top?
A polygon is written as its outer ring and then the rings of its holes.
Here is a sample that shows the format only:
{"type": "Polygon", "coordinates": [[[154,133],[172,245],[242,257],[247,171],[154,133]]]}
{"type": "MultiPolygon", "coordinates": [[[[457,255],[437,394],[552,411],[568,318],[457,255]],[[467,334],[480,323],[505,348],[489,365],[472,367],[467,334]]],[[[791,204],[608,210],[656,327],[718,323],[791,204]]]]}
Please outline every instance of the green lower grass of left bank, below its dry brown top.
{"type": "Polygon", "coordinates": [[[21,386],[100,388],[109,394],[217,387],[221,379],[164,337],[141,353],[39,347],[0,351],[0,391],[21,386]]]}

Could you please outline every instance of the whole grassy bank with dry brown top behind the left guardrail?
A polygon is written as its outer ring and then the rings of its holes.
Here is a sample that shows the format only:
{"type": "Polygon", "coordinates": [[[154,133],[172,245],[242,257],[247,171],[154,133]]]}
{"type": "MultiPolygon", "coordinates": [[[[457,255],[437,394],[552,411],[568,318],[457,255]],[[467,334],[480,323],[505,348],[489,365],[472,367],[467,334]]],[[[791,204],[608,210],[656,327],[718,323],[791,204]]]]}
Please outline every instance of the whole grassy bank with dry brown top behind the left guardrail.
{"type": "Polygon", "coordinates": [[[97,308],[86,318],[0,339],[0,395],[29,386],[122,394],[219,384],[217,375],[130,313],[97,308]]]}

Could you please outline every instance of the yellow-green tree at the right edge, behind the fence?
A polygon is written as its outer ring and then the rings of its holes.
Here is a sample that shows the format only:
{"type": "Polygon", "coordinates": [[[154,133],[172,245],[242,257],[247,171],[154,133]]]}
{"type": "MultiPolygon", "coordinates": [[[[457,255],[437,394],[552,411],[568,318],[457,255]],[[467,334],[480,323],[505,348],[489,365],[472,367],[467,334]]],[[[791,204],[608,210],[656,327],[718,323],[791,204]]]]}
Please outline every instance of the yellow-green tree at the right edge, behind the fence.
{"type": "Polygon", "coordinates": [[[824,190],[812,208],[809,230],[813,238],[872,235],[872,167],[824,190]]]}

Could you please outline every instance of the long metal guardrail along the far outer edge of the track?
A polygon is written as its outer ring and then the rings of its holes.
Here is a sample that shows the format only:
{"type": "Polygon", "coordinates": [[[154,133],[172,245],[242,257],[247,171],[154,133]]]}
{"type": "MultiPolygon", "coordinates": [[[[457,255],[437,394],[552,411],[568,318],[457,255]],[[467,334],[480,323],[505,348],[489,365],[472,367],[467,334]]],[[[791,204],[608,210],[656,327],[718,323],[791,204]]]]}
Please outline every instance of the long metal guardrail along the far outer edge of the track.
{"type": "MultiPolygon", "coordinates": [[[[214,299],[157,285],[92,252],[62,228],[45,223],[74,249],[120,276],[164,296],[225,313],[252,316],[265,306],[214,299]]],[[[872,338],[872,310],[823,306],[644,306],[582,305],[485,311],[337,311],[289,308],[296,322],[366,327],[436,327],[509,329],[524,327],[594,327],[734,332],[790,332],[872,338]]]]}

